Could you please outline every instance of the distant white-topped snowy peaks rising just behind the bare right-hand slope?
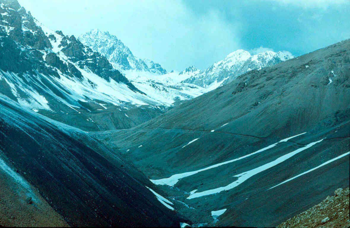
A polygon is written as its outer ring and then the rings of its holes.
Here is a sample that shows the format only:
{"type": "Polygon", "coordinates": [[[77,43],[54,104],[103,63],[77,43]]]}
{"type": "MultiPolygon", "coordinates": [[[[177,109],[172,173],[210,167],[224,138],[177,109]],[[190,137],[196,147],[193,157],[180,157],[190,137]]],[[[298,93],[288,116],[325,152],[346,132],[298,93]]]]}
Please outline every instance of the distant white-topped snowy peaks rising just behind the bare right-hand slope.
{"type": "Polygon", "coordinates": [[[196,72],[193,76],[184,79],[183,82],[214,89],[228,84],[248,71],[260,70],[291,58],[294,56],[289,52],[265,51],[252,56],[248,51],[239,49],[203,72],[196,72]]]}

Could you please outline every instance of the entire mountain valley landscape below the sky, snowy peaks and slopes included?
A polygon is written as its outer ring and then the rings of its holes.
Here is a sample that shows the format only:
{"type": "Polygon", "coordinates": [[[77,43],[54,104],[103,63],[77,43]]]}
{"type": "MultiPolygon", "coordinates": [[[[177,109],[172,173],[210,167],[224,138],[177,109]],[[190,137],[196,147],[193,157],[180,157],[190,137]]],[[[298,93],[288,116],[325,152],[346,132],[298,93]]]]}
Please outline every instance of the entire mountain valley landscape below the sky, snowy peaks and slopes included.
{"type": "Polygon", "coordinates": [[[349,225],[350,39],[156,62],[0,0],[0,226],[349,225]]]}

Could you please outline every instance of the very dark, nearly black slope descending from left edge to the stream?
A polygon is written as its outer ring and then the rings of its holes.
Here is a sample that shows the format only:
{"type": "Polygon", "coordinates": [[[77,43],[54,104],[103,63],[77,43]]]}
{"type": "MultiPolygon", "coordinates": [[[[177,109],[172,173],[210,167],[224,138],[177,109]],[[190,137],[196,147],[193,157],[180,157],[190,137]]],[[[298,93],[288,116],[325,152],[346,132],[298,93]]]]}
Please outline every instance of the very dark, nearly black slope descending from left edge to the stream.
{"type": "Polygon", "coordinates": [[[115,152],[4,96],[0,154],[71,226],[180,224],[176,213],[145,187],[155,186],[115,152]]]}

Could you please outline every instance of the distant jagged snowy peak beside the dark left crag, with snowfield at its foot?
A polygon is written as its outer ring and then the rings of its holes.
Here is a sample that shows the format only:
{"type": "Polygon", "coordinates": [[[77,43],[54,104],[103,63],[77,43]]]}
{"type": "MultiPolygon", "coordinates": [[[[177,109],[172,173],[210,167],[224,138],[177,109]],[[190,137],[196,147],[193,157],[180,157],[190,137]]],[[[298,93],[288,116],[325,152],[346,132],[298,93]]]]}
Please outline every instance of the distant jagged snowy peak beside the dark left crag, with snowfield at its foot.
{"type": "Polygon", "coordinates": [[[128,47],[107,31],[91,30],[80,35],[78,40],[109,59],[113,67],[122,72],[135,87],[158,101],[158,107],[169,107],[176,101],[192,99],[206,92],[201,86],[181,83],[190,76],[184,74],[185,77],[176,80],[172,77],[175,74],[167,73],[160,64],[136,58],[128,47]]]}

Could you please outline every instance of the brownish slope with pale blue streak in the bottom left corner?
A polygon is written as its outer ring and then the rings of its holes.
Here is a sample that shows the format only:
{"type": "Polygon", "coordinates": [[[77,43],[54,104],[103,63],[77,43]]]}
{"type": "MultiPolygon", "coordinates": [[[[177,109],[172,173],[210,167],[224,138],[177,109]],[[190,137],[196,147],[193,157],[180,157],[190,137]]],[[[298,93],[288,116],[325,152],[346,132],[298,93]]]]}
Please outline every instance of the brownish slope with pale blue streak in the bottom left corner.
{"type": "Polygon", "coordinates": [[[0,154],[0,225],[5,227],[68,227],[48,202],[0,154]]]}

